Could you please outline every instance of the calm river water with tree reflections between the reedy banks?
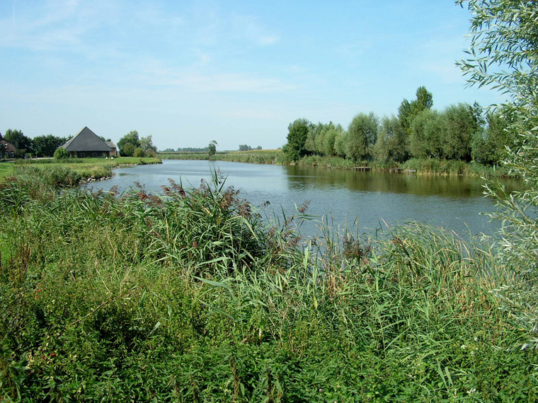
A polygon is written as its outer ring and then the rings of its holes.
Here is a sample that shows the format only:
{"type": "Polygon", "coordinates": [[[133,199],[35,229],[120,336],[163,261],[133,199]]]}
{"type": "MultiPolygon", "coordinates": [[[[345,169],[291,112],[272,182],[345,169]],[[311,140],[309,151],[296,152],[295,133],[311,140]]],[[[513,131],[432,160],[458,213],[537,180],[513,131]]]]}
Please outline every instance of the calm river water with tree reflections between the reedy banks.
{"type": "MultiPolygon", "coordinates": [[[[335,226],[352,225],[357,220],[361,232],[422,221],[454,230],[464,238],[471,234],[491,234],[498,223],[484,213],[495,208],[483,195],[483,181],[476,177],[434,177],[396,173],[329,170],[290,165],[256,165],[205,160],[164,160],[159,165],[139,165],[114,171],[111,180],[92,183],[94,190],[117,185],[120,192],[134,182],[149,192],[162,192],[168,178],[183,187],[198,187],[211,180],[213,170],[227,177],[226,185],[241,189],[241,197],[260,206],[270,202],[268,211],[281,216],[293,214],[296,206],[309,202],[307,214],[324,216],[335,226]]],[[[517,187],[517,181],[506,181],[517,187]]],[[[266,209],[267,211],[267,209],[266,209]]],[[[313,224],[307,224],[308,228],[313,224]]]]}

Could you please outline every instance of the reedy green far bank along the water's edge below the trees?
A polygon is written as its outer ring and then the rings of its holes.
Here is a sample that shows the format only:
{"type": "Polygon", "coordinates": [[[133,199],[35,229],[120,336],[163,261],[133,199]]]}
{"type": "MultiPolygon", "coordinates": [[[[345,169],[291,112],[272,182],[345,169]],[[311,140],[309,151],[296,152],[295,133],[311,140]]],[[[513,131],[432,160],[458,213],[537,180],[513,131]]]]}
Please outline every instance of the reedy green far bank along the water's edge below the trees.
{"type": "MultiPolygon", "coordinates": [[[[158,153],[162,159],[178,160],[224,160],[239,163],[261,163],[286,165],[282,150],[251,150],[251,151],[219,151],[211,158],[207,152],[200,153],[158,153]]],[[[412,158],[401,164],[382,164],[375,161],[359,163],[340,157],[305,156],[294,165],[319,166],[328,169],[348,170],[379,170],[387,172],[416,173],[417,175],[466,175],[476,177],[509,177],[510,172],[505,167],[491,167],[479,163],[466,163],[459,160],[439,160],[435,158],[412,158]]]]}

